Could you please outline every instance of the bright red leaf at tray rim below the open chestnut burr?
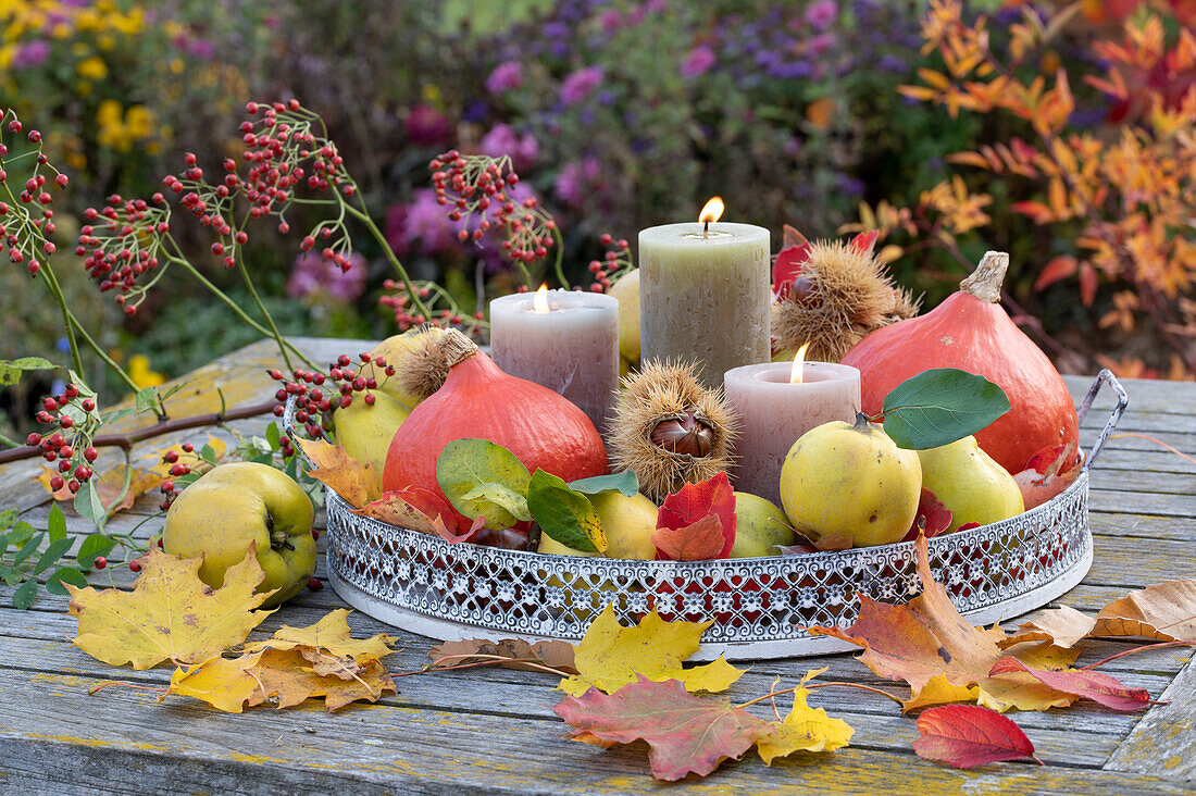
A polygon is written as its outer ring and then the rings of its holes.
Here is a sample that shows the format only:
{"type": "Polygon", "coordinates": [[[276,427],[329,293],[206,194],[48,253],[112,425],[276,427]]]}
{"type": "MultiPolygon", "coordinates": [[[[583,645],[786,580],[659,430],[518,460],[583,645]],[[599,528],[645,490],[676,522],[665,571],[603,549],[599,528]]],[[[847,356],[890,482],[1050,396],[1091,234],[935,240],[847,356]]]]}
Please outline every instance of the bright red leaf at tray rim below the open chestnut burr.
{"type": "Polygon", "coordinates": [[[665,498],[652,543],[670,560],[727,558],[736,543],[736,496],[727,474],[687,484],[665,498]]]}

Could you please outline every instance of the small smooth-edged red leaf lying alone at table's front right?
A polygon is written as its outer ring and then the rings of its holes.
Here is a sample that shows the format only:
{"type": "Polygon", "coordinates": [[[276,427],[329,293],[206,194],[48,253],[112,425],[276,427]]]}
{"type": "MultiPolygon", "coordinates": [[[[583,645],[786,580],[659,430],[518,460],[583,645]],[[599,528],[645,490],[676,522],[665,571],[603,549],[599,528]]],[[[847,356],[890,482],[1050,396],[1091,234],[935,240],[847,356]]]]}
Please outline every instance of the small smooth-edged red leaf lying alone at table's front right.
{"type": "Polygon", "coordinates": [[[944,705],[923,711],[917,717],[914,741],[920,758],[942,762],[952,768],[972,768],[986,762],[1021,760],[1035,756],[1035,745],[1021,728],[996,711],[976,705],[944,705]]]}

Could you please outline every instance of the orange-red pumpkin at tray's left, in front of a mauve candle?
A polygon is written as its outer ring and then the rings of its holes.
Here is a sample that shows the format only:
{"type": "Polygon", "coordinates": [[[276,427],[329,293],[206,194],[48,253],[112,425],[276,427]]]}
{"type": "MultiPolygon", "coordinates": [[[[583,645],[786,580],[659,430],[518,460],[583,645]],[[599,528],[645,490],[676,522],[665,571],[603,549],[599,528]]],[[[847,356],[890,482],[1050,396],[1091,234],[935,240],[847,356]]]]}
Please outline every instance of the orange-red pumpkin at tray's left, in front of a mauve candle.
{"type": "MultiPolygon", "coordinates": [[[[437,458],[454,439],[489,439],[566,481],[605,475],[606,448],[593,423],[554,390],[504,372],[469,338],[450,329],[439,342],[448,361],[440,389],[416,406],[386,451],[383,487],[444,496],[437,458]]],[[[458,514],[458,522],[470,521],[458,514]]]]}

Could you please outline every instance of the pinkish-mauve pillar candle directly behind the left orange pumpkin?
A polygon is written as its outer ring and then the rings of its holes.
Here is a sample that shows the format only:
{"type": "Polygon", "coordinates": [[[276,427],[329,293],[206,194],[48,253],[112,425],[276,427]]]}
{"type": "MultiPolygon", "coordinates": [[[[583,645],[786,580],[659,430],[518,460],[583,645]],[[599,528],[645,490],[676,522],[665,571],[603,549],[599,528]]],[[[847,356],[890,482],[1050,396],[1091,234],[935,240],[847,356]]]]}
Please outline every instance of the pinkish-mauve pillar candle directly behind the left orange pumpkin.
{"type": "Polygon", "coordinates": [[[556,390],[606,430],[618,390],[618,299],[550,290],[490,302],[490,358],[504,371],[556,390]]]}

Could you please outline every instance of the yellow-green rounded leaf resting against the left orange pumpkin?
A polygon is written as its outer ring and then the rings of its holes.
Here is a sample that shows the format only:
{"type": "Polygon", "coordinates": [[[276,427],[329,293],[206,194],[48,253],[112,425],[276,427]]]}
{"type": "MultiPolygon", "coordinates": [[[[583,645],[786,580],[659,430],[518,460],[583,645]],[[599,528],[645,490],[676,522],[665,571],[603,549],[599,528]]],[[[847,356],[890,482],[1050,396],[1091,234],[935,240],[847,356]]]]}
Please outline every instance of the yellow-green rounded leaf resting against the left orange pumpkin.
{"type": "Polygon", "coordinates": [[[454,439],[437,460],[440,491],[466,517],[484,516],[492,530],[531,519],[524,498],[530,480],[514,454],[488,439],[454,439]]]}

